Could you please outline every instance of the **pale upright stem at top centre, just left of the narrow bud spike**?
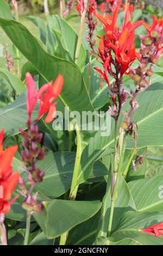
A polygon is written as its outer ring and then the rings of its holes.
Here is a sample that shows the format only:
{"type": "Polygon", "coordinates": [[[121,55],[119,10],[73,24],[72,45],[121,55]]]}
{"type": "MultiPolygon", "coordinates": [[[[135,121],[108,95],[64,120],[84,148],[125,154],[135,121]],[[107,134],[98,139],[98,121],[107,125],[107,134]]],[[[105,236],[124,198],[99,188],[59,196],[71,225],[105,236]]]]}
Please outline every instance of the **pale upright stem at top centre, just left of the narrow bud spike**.
{"type": "Polygon", "coordinates": [[[76,54],[75,54],[76,64],[78,62],[80,47],[82,44],[83,31],[84,31],[84,25],[85,25],[85,15],[86,15],[86,10],[83,11],[83,14],[82,14],[81,20],[80,20],[80,30],[79,30],[79,36],[78,36],[78,42],[77,42],[77,48],[76,48],[76,54]]]}

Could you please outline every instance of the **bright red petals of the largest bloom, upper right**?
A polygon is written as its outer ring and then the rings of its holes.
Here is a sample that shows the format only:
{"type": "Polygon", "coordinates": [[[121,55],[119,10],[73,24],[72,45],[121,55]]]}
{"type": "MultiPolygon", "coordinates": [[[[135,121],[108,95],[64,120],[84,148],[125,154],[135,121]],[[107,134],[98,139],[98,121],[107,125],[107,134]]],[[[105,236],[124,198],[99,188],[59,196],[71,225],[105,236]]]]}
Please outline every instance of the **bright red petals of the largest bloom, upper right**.
{"type": "MultiPolygon", "coordinates": [[[[139,27],[143,21],[137,21],[131,24],[127,11],[123,26],[118,28],[116,21],[119,8],[120,4],[117,5],[112,17],[109,14],[106,14],[106,17],[97,14],[97,18],[103,23],[105,31],[105,35],[101,37],[99,42],[99,57],[102,60],[105,74],[106,71],[109,72],[111,63],[115,61],[117,64],[120,64],[120,74],[122,76],[131,63],[133,63],[136,58],[140,58],[139,53],[135,51],[134,30],[139,27]],[[112,51],[115,53],[115,60],[112,56],[112,51]]],[[[104,76],[103,78],[105,80],[104,76]]]]}

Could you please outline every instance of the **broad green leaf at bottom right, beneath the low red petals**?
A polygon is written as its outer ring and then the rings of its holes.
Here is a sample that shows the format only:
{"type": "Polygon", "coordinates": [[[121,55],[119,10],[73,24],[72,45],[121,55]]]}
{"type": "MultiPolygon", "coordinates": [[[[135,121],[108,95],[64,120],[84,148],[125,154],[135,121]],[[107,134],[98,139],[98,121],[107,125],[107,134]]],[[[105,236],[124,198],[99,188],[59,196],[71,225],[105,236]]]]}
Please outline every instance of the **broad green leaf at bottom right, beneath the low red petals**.
{"type": "Polygon", "coordinates": [[[109,240],[117,242],[122,239],[134,239],[141,245],[163,245],[162,236],[156,237],[139,231],[162,221],[163,215],[159,212],[126,212],[109,240]]]}

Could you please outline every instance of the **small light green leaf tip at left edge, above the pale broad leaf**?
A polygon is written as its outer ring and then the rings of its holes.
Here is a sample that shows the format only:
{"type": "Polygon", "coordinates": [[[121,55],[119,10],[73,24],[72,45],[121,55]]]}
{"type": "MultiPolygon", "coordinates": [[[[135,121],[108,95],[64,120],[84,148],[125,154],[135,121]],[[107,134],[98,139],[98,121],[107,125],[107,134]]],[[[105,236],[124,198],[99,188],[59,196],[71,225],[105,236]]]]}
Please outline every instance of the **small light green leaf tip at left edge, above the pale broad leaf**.
{"type": "Polygon", "coordinates": [[[18,79],[17,76],[13,75],[11,72],[9,72],[6,69],[0,69],[0,74],[9,82],[12,88],[14,88],[17,95],[20,95],[26,90],[26,86],[22,83],[20,79],[18,79]]]}

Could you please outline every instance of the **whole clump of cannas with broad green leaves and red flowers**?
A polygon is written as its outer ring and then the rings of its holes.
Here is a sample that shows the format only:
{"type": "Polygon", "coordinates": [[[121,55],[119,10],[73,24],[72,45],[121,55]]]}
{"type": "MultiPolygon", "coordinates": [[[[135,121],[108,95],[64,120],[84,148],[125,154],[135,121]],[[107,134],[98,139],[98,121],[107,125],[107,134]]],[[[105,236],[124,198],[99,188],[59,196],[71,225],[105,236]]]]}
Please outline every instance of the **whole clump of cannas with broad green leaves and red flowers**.
{"type": "Polygon", "coordinates": [[[163,175],[147,159],[163,145],[163,18],[61,1],[61,17],[28,17],[36,37],[1,2],[16,51],[0,68],[0,243],[162,245],[163,175]]]}

